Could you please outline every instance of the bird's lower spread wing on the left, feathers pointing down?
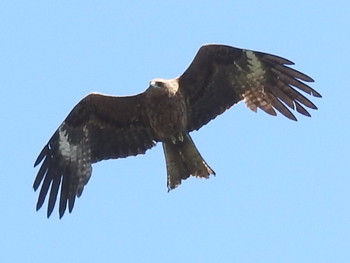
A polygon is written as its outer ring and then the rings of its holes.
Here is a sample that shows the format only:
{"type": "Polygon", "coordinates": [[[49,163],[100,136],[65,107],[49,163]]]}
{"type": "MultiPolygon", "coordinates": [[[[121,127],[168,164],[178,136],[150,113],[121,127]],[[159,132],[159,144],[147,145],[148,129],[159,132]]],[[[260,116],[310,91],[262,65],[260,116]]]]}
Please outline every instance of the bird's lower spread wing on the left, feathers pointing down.
{"type": "Polygon", "coordinates": [[[59,197],[59,214],[72,211],[91,176],[91,164],[143,154],[155,145],[143,109],[144,93],[130,97],[90,94],[82,99],[39,154],[34,190],[41,184],[37,210],[49,192],[47,216],[59,197]],[[60,194],[59,192],[60,188],[60,194]]]}

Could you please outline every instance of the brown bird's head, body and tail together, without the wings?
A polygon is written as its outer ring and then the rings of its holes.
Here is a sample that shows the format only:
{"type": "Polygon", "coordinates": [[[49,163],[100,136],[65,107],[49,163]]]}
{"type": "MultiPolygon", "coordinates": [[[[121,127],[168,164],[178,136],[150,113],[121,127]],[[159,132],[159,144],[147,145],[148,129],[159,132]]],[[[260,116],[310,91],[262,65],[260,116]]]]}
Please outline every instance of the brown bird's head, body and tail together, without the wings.
{"type": "Polygon", "coordinates": [[[215,174],[189,135],[186,100],[178,89],[177,79],[154,79],[146,95],[150,126],[163,145],[168,190],[190,175],[208,178],[215,174]]]}

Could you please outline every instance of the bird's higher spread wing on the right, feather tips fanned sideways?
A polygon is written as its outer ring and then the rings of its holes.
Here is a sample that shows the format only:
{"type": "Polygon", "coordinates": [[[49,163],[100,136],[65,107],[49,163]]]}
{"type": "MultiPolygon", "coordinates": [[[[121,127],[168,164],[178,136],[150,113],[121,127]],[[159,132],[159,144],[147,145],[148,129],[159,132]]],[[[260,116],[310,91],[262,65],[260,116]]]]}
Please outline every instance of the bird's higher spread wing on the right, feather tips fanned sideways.
{"type": "Polygon", "coordinates": [[[277,110],[291,120],[297,119],[290,109],[310,116],[305,107],[317,107],[297,89],[321,95],[305,84],[312,78],[286,65],[293,62],[230,46],[202,46],[179,77],[180,92],[187,98],[189,130],[198,130],[241,100],[253,111],[260,108],[276,115],[277,110]]]}

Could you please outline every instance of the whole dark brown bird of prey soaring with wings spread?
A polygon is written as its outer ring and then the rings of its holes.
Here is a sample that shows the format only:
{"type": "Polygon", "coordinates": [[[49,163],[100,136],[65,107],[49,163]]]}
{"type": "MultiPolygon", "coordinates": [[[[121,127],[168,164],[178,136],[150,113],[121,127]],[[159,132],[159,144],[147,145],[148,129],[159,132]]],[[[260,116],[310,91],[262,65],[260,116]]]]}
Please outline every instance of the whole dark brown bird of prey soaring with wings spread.
{"type": "Polygon", "coordinates": [[[317,109],[298,90],[321,97],[306,83],[313,79],[271,54],[225,45],[202,46],[186,71],[174,79],[153,79],[134,96],[91,93],[68,114],[40,152],[33,187],[36,209],[48,196],[47,217],[59,196],[59,217],[72,211],[92,173],[92,163],[144,154],[161,142],[168,190],[189,176],[215,172],[194,145],[190,132],[239,101],[270,115],[297,120],[291,110],[310,116],[317,109]]]}

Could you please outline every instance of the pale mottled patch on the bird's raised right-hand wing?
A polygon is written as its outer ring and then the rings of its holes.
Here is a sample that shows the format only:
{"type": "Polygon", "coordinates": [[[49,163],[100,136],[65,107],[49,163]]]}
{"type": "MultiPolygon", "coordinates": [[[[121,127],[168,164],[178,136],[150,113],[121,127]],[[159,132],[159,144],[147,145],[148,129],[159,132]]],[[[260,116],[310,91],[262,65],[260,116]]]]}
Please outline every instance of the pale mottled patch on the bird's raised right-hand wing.
{"type": "Polygon", "coordinates": [[[248,59],[248,72],[247,72],[247,82],[245,86],[245,92],[243,92],[242,97],[247,107],[253,111],[257,111],[257,108],[263,109],[265,112],[276,115],[275,110],[271,106],[271,101],[268,98],[264,90],[265,74],[266,71],[263,64],[250,50],[246,50],[245,54],[248,59]]]}

